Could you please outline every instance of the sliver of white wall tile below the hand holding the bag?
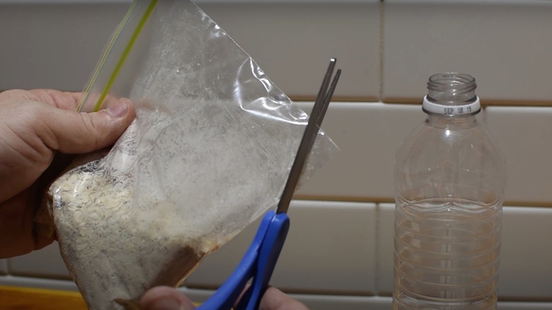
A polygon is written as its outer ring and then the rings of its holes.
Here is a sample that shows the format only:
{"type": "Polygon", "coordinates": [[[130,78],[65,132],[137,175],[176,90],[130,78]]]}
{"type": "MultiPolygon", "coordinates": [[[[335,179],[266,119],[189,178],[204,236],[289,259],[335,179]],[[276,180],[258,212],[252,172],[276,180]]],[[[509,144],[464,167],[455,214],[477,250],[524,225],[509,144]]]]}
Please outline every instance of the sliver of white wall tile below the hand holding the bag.
{"type": "Polygon", "coordinates": [[[10,275],[71,279],[62,256],[59,254],[57,242],[38,251],[33,251],[24,256],[9,258],[8,260],[8,272],[10,275]]]}

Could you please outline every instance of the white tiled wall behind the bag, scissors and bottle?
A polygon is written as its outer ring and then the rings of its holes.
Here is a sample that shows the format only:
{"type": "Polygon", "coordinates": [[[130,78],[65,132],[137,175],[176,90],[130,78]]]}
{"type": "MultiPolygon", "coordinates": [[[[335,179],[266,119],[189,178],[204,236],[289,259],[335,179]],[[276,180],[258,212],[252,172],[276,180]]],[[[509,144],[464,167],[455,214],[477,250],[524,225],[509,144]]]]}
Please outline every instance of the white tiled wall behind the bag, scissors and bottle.
{"type": "MultiPolygon", "coordinates": [[[[0,90],[82,89],[130,3],[109,2],[0,1],[0,90]]],[[[392,201],[396,147],[425,116],[419,105],[382,99],[420,101],[430,74],[458,70],[476,76],[483,101],[551,101],[552,1],[330,2],[199,5],[290,96],[313,96],[338,57],[341,99],[323,130],[340,152],[297,193],[310,200],[293,202],[272,284],[312,309],[389,309],[393,205],[381,202],[392,201]]],[[[491,106],[479,118],[505,151],[507,204],[516,206],[504,214],[499,309],[552,309],[552,108],[491,106]]],[[[257,225],[209,256],[182,289],[207,298],[257,225]]],[[[76,289],[68,279],[55,244],[0,260],[0,285],[76,289]]]]}

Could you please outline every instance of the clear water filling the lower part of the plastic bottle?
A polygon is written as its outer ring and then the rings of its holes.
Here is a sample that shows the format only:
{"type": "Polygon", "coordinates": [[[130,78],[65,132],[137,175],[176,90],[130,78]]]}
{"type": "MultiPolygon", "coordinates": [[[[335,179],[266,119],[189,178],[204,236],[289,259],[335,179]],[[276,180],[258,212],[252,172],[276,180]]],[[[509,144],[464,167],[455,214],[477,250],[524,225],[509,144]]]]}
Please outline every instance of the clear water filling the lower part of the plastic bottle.
{"type": "Polygon", "coordinates": [[[500,205],[396,202],[393,309],[495,309],[500,205]]]}

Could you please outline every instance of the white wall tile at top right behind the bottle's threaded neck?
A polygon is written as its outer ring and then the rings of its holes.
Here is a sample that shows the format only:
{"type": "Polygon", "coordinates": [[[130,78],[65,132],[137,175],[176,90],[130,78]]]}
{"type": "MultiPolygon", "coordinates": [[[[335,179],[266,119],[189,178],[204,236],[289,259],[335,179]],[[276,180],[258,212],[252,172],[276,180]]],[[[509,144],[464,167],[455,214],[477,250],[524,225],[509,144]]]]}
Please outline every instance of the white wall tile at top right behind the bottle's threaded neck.
{"type": "Polygon", "coordinates": [[[551,100],[552,1],[383,3],[384,98],[422,98],[430,75],[461,71],[483,101],[551,100]]]}

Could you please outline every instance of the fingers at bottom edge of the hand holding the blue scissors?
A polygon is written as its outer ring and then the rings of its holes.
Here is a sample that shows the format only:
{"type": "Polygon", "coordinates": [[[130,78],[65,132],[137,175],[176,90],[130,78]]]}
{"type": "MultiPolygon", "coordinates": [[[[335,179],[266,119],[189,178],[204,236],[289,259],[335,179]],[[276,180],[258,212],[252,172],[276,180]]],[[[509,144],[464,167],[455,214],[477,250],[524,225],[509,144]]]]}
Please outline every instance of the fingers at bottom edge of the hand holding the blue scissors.
{"type": "MultiPolygon", "coordinates": [[[[149,289],[140,300],[144,310],[192,310],[195,305],[188,297],[172,287],[149,289]]],[[[304,304],[284,294],[280,289],[268,287],[260,299],[259,310],[309,310],[304,304]]]]}

